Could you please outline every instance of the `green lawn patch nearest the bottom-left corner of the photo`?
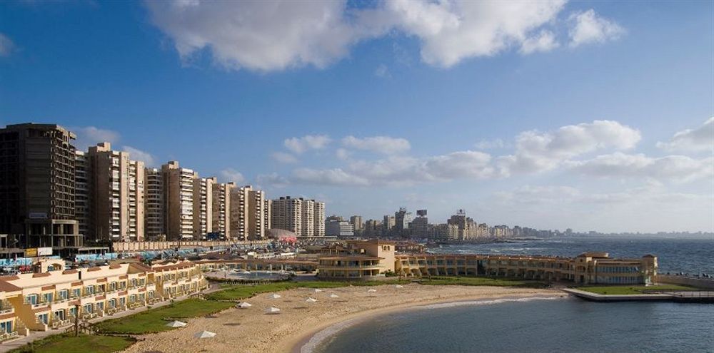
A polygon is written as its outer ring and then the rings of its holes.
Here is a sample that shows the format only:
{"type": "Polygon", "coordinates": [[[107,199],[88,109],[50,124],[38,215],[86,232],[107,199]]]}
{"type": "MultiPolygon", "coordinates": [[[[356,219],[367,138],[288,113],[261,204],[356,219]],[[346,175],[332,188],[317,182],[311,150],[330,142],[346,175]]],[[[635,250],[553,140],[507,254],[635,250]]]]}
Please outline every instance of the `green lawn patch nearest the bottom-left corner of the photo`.
{"type": "Polygon", "coordinates": [[[80,334],[74,337],[68,334],[38,339],[11,353],[110,353],[119,352],[134,344],[134,337],[89,336],[80,334]]]}

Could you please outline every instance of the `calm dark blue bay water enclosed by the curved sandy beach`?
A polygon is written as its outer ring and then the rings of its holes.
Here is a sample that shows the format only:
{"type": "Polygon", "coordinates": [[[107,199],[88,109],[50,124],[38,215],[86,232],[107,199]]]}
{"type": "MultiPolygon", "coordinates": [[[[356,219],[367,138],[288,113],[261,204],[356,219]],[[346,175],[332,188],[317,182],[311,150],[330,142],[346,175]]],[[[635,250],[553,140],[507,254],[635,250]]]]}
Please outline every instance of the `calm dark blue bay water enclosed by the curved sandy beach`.
{"type": "Polygon", "coordinates": [[[714,352],[714,305],[485,300],[373,317],[316,353],[714,352]]]}

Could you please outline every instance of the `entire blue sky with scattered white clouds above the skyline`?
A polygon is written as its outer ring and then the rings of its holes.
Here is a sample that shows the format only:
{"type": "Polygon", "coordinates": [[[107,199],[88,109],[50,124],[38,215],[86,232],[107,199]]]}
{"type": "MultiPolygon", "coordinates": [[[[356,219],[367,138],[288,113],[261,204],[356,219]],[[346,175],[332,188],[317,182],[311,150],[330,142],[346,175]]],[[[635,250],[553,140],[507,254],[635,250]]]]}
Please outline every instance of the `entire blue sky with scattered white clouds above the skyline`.
{"type": "Polygon", "coordinates": [[[1,1],[0,126],[381,220],[714,230],[712,1],[1,1]]]}

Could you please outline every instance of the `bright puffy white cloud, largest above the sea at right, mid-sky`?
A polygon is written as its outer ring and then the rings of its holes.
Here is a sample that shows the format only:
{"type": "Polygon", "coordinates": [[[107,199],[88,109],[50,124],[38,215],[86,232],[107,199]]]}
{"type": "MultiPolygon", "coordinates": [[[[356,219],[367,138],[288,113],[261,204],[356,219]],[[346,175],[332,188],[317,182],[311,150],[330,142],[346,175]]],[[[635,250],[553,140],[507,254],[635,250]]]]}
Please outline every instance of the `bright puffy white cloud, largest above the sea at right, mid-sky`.
{"type": "Polygon", "coordinates": [[[614,148],[627,150],[641,139],[640,131],[617,121],[593,121],[542,133],[525,131],[516,137],[516,153],[498,158],[501,173],[551,170],[584,153],[614,148]]]}

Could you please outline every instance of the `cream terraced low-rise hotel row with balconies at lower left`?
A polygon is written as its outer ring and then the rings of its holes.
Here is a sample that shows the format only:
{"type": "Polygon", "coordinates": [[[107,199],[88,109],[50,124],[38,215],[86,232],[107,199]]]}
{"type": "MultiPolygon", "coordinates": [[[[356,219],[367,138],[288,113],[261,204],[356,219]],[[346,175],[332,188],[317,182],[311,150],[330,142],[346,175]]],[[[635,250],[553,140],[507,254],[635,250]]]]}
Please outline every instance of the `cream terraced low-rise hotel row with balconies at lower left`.
{"type": "Polygon", "coordinates": [[[190,295],[208,287],[200,265],[124,263],[64,270],[44,260],[38,272],[0,277],[0,341],[190,295]]]}

